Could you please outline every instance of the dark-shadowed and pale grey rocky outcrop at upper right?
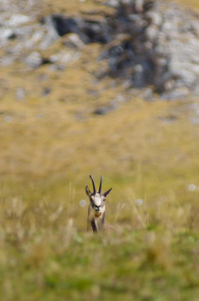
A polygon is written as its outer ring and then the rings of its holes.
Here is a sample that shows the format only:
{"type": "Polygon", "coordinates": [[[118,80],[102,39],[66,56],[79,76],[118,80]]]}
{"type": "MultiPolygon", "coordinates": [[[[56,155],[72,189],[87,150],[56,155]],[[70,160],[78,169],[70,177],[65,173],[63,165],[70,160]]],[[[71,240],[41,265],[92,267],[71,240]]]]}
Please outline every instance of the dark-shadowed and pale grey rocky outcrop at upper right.
{"type": "Polygon", "coordinates": [[[104,75],[126,85],[152,85],[164,98],[198,94],[199,18],[164,1],[107,1],[115,8],[102,22],[52,16],[59,35],[77,33],[84,43],[106,44],[104,75]]]}

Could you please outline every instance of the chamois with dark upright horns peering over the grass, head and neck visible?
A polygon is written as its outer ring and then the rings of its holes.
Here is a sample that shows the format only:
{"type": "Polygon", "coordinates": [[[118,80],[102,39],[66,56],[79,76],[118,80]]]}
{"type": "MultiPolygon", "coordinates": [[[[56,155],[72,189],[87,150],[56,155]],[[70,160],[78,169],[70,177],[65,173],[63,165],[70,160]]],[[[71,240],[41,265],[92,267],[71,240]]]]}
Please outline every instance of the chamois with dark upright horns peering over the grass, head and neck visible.
{"type": "Polygon", "coordinates": [[[104,229],[105,199],[112,190],[112,188],[110,188],[104,193],[101,193],[102,175],[98,191],[95,188],[95,182],[92,175],[90,175],[90,179],[93,183],[93,193],[91,193],[90,189],[88,188],[88,185],[85,186],[86,194],[88,195],[90,200],[90,204],[88,207],[87,231],[91,229],[93,232],[99,232],[100,230],[104,229]]]}

